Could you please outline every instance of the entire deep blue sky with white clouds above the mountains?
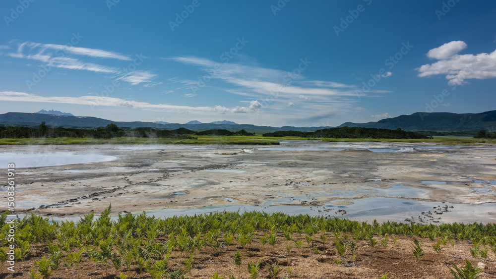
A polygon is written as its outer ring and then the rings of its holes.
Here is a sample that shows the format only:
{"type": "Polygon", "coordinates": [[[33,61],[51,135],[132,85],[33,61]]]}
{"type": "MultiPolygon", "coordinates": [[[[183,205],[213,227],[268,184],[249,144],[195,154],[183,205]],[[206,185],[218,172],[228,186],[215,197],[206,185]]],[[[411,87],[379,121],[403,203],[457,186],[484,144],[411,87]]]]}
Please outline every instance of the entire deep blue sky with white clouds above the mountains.
{"type": "Polygon", "coordinates": [[[495,110],[496,3],[0,2],[0,113],[335,126],[495,110]]]}

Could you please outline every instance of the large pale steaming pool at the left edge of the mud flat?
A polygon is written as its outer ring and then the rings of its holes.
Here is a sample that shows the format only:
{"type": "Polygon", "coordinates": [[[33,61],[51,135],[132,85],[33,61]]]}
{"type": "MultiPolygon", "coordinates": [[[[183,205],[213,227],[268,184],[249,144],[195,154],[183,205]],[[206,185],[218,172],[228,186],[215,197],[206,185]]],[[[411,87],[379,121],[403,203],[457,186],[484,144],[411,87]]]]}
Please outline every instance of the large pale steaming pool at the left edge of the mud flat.
{"type": "Polygon", "coordinates": [[[48,167],[70,164],[108,162],[116,160],[115,156],[98,154],[74,154],[71,152],[5,152],[0,153],[0,165],[15,163],[16,168],[21,167],[48,167]]]}

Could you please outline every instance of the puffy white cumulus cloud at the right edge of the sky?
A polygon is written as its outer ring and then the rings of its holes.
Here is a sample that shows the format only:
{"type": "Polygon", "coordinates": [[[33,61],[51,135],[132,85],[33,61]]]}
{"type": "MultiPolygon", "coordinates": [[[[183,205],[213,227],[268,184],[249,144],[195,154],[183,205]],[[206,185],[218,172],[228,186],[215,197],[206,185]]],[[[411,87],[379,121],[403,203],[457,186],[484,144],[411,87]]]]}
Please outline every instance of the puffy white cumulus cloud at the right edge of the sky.
{"type": "Polygon", "coordinates": [[[467,79],[496,77],[496,50],[492,53],[458,55],[467,48],[462,41],[453,41],[434,48],[427,53],[437,62],[417,68],[419,77],[445,74],[449,85],[463,85],[467,79]]]}

